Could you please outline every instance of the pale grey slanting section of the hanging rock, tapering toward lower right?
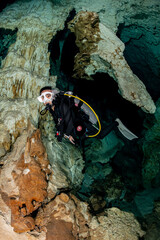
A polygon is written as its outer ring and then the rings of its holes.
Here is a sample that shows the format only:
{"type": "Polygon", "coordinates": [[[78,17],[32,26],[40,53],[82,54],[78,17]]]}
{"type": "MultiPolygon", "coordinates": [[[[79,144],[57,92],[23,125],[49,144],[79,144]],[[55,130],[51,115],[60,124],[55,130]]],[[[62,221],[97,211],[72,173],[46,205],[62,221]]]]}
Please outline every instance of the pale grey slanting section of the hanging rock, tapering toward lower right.
{"type": "MultiPolygon", "coordinates": [[[[154,113],[155,104],[142,81],[133,74],[124,56],[124,44],[103,24],[99,24],[101,40],[98,50],[91,54],[91,64],[85,72],[107,72],[118,83],[123,98],[136,104],[145,112],[154,113]]],[[[106,82],[107,86],[107,82],[106,82]]]]}

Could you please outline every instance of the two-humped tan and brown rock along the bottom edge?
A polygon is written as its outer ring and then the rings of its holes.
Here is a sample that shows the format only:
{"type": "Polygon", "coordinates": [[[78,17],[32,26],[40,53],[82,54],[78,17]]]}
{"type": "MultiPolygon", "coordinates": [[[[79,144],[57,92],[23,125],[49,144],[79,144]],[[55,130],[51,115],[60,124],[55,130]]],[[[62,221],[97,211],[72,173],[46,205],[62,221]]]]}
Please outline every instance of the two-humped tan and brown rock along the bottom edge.
{"type": "Polygon", "coordinates": [[[36,218],[40,231],[47,232],[47,240],[138,240],[144,235],[144,231],[141,230],[139,223],[131,213],[111,208],[100,216],[92,217],[86,203],[80,202],[73,195],[65,202],[60,196],[57,196],[43,211],[39,212],[36,218]],[[65,236],[62,233],[65,233],[65,236]]]}

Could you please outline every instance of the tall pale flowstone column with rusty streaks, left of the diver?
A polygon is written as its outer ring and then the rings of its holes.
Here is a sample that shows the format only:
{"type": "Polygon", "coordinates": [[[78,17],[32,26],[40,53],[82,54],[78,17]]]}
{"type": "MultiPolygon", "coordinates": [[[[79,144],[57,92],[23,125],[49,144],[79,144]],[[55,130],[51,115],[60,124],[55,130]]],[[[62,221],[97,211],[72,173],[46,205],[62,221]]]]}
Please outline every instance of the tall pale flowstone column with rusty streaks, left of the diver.
{"type": "MultiPolygon", "coordinates": [[[[55,87],[56,77],[49,78],[48,44],[64,27],[69,11],[69,7],[57,8],[50,1],[40,0],[17,1],[0,14],[1,28],[18,28],[16,42],[10,46],[0,69],[1,123],[4,136],[10,134],[10,144],[27,127],[28,119],[37,126],[41,106],[36,98],[40,88],[55,87]]],[[[1,137],[0,156],[9,150],[4,147],[6,141],[9,146],[9,138],[1,137]]]]}

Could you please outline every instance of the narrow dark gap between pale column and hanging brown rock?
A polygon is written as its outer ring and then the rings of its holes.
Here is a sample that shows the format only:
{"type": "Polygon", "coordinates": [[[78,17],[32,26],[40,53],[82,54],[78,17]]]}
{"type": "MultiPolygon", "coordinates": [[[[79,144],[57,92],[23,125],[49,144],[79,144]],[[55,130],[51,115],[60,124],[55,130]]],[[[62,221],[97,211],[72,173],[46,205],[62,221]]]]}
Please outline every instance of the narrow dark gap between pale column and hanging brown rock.
{"type": "Polygon", "coordinates": [[[75,35],[68,29],[67,24],[76,15],[73,9],[65,21],[63,30],[57,32],[51,39],[48,51],[50,52],[50,75],[57,76],[57,87],[67,91],[71,88],[74,68],[74,56],[79,52],[75,44],[75,35]]]}

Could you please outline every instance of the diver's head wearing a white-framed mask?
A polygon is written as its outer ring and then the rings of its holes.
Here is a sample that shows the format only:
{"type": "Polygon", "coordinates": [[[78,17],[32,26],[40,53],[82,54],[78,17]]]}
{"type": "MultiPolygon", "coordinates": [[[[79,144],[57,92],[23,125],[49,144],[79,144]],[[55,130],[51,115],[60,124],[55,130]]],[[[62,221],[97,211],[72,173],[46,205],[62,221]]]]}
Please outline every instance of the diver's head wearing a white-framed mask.
{"type": "Polygon", "coordinates": [[[50,104],[52,105],[52,101],[55,97],[54,90],[51,86],[46,86],[41,88],[40,96],[37,98],[39,102],[44,103],[44,105],[50,104]]]}

